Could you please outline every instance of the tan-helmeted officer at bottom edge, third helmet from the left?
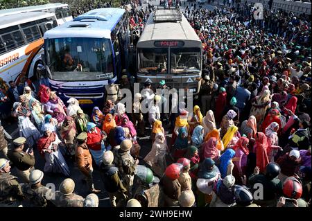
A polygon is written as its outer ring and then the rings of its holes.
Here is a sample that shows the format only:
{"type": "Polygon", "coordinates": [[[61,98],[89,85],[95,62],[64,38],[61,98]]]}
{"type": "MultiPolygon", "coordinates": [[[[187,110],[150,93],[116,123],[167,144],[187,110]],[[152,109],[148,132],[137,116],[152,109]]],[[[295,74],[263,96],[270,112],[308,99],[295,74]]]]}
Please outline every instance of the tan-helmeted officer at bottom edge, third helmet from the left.
{"type": "Polygon", "coordinates": [[[57,207],[83,207],[85,199],[73,193],[74,189],[75,182],[73,182],[73,179],[64,179],[60,184],[60,191],[55,192],[51,202],[57,207]]]}

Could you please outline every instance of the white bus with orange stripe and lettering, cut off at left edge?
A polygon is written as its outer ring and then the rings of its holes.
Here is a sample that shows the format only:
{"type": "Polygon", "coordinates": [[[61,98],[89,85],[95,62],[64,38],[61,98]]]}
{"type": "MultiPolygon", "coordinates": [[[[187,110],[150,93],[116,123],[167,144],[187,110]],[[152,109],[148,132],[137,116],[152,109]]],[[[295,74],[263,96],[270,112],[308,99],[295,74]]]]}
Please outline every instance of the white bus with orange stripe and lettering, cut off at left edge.
{"type": "Polygon", "coordinates": [[[0,17],[0,77],[19,82],[21,76],[36,76],[42,63],[43,35],[58,26],[54,14],[24,12],[0,17]]]}

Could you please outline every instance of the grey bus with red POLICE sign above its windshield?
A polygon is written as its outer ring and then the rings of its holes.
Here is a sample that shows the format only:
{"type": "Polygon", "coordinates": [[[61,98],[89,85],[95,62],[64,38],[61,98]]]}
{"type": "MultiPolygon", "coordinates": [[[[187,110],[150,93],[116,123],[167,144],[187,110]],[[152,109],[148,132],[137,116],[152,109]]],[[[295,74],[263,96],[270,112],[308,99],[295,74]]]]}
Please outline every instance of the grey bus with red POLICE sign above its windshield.
{"type": "Polygon", "coordinates": [[[153,12],[137,42],[137,80],[160,80],[196,94],[202,72],[202,42],[178,9],[153,12]]]}

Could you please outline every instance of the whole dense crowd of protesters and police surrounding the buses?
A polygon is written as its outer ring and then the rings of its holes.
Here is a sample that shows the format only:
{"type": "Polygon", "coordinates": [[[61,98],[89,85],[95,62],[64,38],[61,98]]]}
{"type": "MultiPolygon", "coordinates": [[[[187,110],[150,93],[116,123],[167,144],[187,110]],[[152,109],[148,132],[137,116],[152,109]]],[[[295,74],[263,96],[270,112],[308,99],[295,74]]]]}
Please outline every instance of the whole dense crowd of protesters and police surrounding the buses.
{"type": "MultiPolygon", "coordinates": [[[[135,35],[152,11],[132,3],[135,35]]],[[[131,112],[122,96],[107,93],[103,109],[88,116],[49,85],[35,93],[29,80],[1,81],[0,105],[10,98],[19,137],[0,127],[0,206],[98,206],[101,191],[111,206],[311,206],[311,21],[257,22],[246,11],[193,4],[183,11],[204,50],[192,112],[180,101],[177,113],[161,113],[164,97],[150,82],[133,96],[131,112]],[[150,146],[141,156],[144,136],[150,146]],[[40,160],[44,168],[35,169],[40,160]],[[87,197],[74,193],[68,161],[85,177],[87,197]],[[104,189],[94,188],[94,170],[104,189]],[[41,183],[51,174],[67,177],[55,193],[41,183]]],[[[106,86],[119,88],[131,88],[126,75],[106,86]]]]}

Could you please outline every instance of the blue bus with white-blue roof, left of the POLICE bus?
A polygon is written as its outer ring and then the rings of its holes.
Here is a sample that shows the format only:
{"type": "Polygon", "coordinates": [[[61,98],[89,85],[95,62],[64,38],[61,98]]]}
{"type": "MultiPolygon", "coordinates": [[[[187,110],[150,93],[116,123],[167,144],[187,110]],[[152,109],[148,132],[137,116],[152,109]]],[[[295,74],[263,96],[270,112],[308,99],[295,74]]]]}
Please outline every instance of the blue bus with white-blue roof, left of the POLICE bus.
{"type": "Polygon", "coordinates": [[[128,17],[121,8],[90,10],[44,34],[44,54],[51,89],[63,100],[103,105],[109,79],[126,68],[128,17]]]}

